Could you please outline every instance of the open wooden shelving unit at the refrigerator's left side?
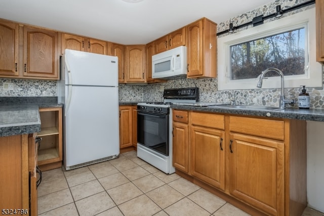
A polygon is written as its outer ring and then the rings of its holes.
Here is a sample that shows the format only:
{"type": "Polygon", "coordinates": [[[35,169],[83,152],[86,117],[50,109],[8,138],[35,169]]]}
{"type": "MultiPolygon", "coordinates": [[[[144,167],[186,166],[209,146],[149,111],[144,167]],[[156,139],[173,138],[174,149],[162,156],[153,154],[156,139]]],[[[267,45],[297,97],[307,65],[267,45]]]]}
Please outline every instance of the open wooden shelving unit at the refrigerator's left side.
{"type": "Polygon", "coordinates": [[[41,145],[37,164],[42,171],[62,166],[62,107],[40,108],[41,145]]]}

